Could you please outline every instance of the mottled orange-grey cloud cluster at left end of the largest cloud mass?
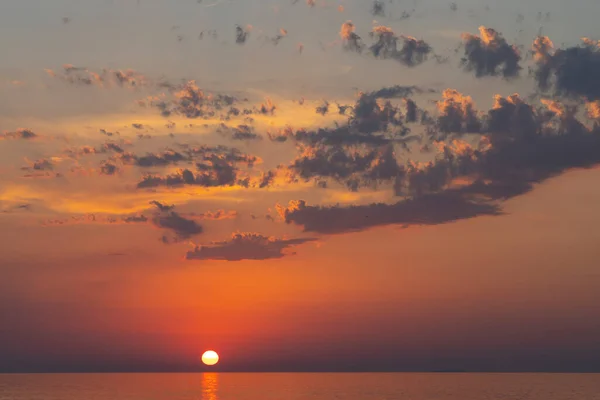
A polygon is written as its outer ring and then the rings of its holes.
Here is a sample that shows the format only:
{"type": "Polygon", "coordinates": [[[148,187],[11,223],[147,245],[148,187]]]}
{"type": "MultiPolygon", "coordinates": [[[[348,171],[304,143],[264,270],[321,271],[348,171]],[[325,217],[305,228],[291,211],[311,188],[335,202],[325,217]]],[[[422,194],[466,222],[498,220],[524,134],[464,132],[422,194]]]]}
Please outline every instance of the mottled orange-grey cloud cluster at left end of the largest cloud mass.
{"type": "Polygon", "coordinates": [[[407,143],[418,139],[409,136],[410,129],[405,126],[405,121],[416,120],[416,104],[405,102],[409,113],[405,116],[399,107],[378,96],[397,97],[413,90],[396,86],[361,93],[353,106],[338,105],[344,114],[349,114],[344,125],[311,131],[287,127],[278,134],[270,134],[272,141],[293,140],[300,149],[300,155],[284,167],[288,177],[292,181],[314,180],[321,186],[326,186],[324,179],[331,179],[350,190],[358,190],[401,176],[404,167],[397,162],[396,146],[408,149],[407,143]]]}

